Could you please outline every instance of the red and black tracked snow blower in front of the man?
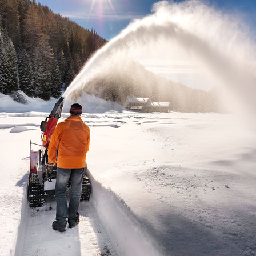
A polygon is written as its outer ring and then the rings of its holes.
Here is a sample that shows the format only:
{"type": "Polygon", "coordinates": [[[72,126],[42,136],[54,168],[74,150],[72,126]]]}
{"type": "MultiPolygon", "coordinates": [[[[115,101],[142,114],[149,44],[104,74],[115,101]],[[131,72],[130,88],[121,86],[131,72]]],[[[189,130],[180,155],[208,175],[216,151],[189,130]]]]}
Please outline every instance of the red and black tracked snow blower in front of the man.
{"type": "MultiPolygon", "coordinates": [[[[42,131],[42,146],[30,141],[30,171],[29,183],[27,189],[27,198],[30,207],[41,207],[45,202],[47,195],[54,195],[57,167],[47,166],[48,162],[48,146],[51,135],[57,125],[58,119],[61,117],[63,107],[63,97],[61,97],[49,117],[41,122],[40,129],[42,131]],[[41,146],[38,151],[31,150],[31,144],[41,146]]],[[[87,169],[87,165],[85,170],[87,169]]],[[[67,185],[70,187],[70,181],[67,185]]],[[[81,201],[90,199],[91,185],[86,175],[83,176],[81,201]]]]}

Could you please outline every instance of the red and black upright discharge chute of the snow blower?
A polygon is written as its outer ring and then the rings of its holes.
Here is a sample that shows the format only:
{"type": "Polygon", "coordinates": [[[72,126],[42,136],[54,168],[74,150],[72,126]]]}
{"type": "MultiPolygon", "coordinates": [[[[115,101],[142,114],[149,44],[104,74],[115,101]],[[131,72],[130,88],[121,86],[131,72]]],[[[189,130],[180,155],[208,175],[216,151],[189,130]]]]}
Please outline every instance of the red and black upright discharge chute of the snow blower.
{"type": "Polygon", "coordinates": [[[63,97],[59,98],[57,103],[55,103],[53,110],[47,118],[41,122],[40,129],[42,131],[42,146],[48,147],[50,143],[51,135],[53,134],[55,127],[57,125],[58,119],[61,117],[61,111],[63,107],[63,97]]]}

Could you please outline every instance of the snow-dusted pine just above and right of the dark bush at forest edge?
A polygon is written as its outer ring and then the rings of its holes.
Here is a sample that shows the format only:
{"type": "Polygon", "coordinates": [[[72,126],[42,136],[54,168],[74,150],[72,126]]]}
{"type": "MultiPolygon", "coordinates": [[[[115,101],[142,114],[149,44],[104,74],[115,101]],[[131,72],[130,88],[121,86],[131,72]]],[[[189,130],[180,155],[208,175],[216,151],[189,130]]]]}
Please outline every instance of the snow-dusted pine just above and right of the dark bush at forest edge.
{"type": "Polygon", "coordinates": [[[19,89],[26,93],[29,97],[35,95],[34,75],[31,66],[30,57],[24,49],[19,55],[19,89]]]}

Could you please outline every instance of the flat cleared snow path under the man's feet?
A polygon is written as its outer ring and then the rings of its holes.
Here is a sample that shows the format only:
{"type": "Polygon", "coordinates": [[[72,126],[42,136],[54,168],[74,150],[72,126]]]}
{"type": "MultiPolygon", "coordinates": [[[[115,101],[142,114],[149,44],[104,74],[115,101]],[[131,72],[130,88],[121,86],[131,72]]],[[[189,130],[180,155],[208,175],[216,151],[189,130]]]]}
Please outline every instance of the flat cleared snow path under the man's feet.
{"type": "Polygon", "coordinates": [[[90,201],[81,202],[79,206],[80,223],[65,233],[51,229],[55,219],[55,199],[48,200],[41,208],[27,209],[23,221],[26,226],[23,251],[16,255],[86,255],[115,256],[109,235],[101,224],[98,214],[90,201]]]}

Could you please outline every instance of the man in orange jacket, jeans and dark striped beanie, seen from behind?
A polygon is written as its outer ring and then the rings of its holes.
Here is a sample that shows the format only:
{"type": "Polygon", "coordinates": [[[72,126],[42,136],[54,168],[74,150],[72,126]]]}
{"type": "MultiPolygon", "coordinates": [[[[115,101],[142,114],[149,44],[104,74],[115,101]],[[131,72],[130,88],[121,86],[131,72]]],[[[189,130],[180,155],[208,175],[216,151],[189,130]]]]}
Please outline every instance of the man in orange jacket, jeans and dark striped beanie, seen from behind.
{"type": "Polygon", "coordinates": [[[77,103],[71,105],[70,117],[56,126],[48,147],[49,165],[57,164],[55,185],[57,210],[53,229],[59,232],[66,231],[66,219],[70,228],[79,223],[78,206],[82,193],[86,153],[90,143],[90,129],[83,123],[81,114],[81,105],[77,103]],[[71,196],[67,207],[66,189],[69,178],[71,196]]]}

